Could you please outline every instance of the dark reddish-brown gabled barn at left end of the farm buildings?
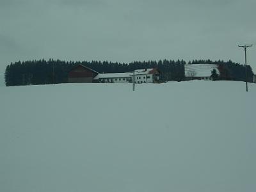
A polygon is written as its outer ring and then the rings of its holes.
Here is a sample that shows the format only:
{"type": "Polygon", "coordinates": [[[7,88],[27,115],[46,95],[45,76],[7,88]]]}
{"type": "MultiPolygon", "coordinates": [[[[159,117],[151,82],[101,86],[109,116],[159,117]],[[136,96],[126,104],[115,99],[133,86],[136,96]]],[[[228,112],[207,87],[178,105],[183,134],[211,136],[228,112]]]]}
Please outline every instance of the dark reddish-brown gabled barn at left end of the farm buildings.
{"type": "Polygon", "coordinates": [[[77,65],[68,72],[68,83],[92,83],[99,73],[84,65],[77,65]]]}

